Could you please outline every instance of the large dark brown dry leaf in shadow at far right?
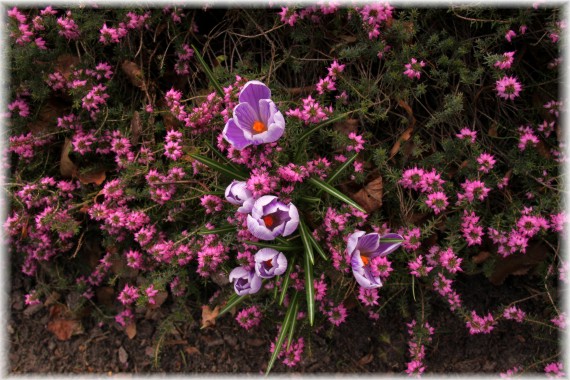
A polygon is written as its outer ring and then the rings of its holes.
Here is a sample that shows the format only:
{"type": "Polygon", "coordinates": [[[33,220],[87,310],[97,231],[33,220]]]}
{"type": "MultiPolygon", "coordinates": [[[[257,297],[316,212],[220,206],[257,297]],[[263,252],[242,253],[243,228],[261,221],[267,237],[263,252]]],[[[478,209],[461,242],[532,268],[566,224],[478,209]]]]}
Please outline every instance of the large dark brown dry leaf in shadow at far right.
{"type": "Polygon", "coordinates": [[[494,285],[500,285],[509,275],[526,274],[530,269],[544,261],[550,249],[542,242],[535,242],[526,249],[526,253],[515,253],[497,260],[495,270],[489,279],[494,285]]]}

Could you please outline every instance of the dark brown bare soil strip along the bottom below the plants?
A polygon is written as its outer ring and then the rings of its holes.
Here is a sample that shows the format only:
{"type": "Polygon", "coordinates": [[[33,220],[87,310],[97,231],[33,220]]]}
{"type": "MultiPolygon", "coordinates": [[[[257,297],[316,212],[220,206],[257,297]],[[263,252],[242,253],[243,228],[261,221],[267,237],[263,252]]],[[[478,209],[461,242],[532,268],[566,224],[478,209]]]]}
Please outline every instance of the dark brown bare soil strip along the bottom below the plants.
{"type": "MultiPolygon", "coordinates": [[[[532,283],[536,281],[528,277],[511,277],[497,287],[482,276],[460,276],[457,289],[466,306],[482,314],[497,305],[539,294],[542,290],[534,289],[532,283]]],[[[161,339],[157,320],[168,310],[160,310],[151,316],[154,320],[137,321],[137,335],[132,340],[124,331],[99,326],[94,318],[86,316],[82,319],[83,333],[59,341],[46,329],[48,308],[32,310],[24,306],[28,286],[28,279],[14,273],[9,322],[12,374],[260,374],[267,366],[269,345],[276,334],[270,323],[245,331],[228,314],[213,328],[200,330],[197,322],[189,322],[161,339]],[[157,343],[161,350],[155,355],[157,343]]],[[[529,316],[544,320],[549,313],[543,307],[544,297],[539,294],[520,306],[529,316]]],[[[559,359],[559,337],[554,330],[501,320],[491,334],[470,336],[458,316],[437,297],[431,299],[426,307],[431,310],[429,322],[436,334],[426,351],[427,372],[499,373],[515,365],[533,364],[530,371],[541,372],[546,363],[559,359]]],[[[402,373],[409,360],[405,323],[411,318],[395,312],[374,322],[353,308],[340,327],[332,329],[327,323],[306,338],[304,359],[297,367],[278,363],[273,372],[402,373]]]]}

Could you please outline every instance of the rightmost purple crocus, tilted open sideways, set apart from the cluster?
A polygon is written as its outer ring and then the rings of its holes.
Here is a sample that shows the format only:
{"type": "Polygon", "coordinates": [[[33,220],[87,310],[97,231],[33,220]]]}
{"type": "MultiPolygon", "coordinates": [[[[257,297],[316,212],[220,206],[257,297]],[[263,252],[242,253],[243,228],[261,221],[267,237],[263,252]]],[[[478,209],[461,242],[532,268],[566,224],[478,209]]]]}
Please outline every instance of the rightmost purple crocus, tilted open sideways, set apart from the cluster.
{"type": "Polygon", "coordinates": [[[395,251],[403,240],[404,238],[398,234],[380,236],[377,233],[367,234],[364,231],[355,231],[348,237],[346,251],[350,255],[352,273],[360,286],[365,289],[382,286],[380,276],[375,274],[377,271],[373,270],[371,261],[395,251]]]}

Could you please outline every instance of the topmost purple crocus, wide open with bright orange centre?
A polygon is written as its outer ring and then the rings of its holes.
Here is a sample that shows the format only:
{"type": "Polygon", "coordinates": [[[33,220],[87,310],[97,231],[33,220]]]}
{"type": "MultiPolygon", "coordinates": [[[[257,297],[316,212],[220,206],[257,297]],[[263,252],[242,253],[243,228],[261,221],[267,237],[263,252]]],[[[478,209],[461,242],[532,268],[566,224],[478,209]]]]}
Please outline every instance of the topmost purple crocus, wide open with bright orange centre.
{"type": "Polygon", "coordinates": [[[260,81],[252,80],[243,86],[234,117],[223,131],[234,148],[274,142],[283,135],[285,119],[270,98],[271,90],[260,81]]]}

